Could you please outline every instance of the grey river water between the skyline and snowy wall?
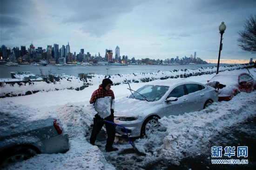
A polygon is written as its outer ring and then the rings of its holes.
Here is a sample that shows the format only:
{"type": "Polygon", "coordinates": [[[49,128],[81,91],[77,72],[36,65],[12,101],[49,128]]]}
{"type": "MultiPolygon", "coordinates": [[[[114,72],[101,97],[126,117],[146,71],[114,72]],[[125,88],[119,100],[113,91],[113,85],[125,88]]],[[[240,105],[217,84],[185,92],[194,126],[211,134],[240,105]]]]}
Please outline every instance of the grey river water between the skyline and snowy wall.
{"type": "MultiPolygon", "coordinates": [[[[47,66],[35,66],[35,65],[20,65],[20,66],[7,66],[0,65],[0,78],[10,78],[10,72],[32,72],[40,75],[40,69],[43,74],[51,72],[52,74],[65,73],[72,76],[78,76],[78,73],[93,72],[95,74],[102,75],[115,75],[115,74],[132,74],[140,72],[157,72],[157,71],[172,71],[181,69],[197,69],[201,67],[212,67],[217,64],[207,65],[91,65],[86,67],[85,65],[47,65],[47,66]],[[61,68],[61,69],[58,69],[61,68]]],[[[220,66],[227,66],[227,64],[220,64],[220,66]]]]}

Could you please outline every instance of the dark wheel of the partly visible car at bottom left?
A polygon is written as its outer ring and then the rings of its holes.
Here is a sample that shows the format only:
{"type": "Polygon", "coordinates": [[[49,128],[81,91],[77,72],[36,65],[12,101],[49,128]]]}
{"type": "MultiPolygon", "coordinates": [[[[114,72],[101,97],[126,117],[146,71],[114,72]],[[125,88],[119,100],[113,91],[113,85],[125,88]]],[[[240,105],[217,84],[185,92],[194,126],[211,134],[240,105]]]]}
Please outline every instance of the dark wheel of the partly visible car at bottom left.
{"type": "Polygon", "coordinates": [[[17,163],[23,160],[27,160],[30,157],[33,157],[37,152],[29,147],[20,146],[8,150],[5,153],[5,157],[1,157],[1,166],[6,167],[13,163],[17,163]]]}

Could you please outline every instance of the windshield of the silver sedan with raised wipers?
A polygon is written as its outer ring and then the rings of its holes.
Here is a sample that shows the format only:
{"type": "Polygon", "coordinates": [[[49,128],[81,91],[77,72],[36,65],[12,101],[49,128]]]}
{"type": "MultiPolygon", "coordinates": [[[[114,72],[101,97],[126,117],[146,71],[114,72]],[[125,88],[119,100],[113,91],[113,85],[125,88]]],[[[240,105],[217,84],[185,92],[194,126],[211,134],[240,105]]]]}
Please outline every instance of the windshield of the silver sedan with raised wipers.
{"type": "Polygon", "coordinates": [[[139,88],[136,92],[133,92],[129,98],[135,98],[138,100],[147,100],[149,102],[157,101],[168,91],[168,86],[162,85],[144,85],[143,87],[139,88]],[[140,94],[139,94],[140,93],[140,94]],[[142,95],[145,97],[143,98],[142,95]]]}

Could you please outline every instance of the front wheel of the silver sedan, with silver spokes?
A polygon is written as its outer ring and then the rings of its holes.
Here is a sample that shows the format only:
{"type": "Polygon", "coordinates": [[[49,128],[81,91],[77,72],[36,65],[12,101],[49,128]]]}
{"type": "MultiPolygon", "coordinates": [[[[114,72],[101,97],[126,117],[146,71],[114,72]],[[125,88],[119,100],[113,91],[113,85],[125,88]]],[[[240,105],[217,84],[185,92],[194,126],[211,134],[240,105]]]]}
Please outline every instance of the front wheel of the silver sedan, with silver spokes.
{"type": "Polygon", "coordinates": [[[148,136],[156,131],[158,131],[160,124],[156,116],[147,118],[142,124],[141,137],[148,136]]]}

